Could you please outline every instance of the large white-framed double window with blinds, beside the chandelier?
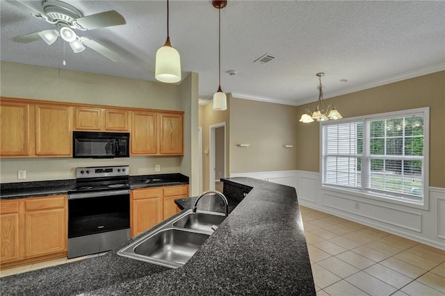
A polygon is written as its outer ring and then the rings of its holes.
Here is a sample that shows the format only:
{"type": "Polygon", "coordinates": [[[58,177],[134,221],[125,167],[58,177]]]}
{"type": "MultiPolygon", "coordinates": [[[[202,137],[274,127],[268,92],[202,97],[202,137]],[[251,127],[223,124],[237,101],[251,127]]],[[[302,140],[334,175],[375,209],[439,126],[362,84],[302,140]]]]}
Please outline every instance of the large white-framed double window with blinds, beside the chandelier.
{"type": "Polygon", "coordinates": [[[323,186],[423,204],[429,108],[323,122],[323,186]]]}

